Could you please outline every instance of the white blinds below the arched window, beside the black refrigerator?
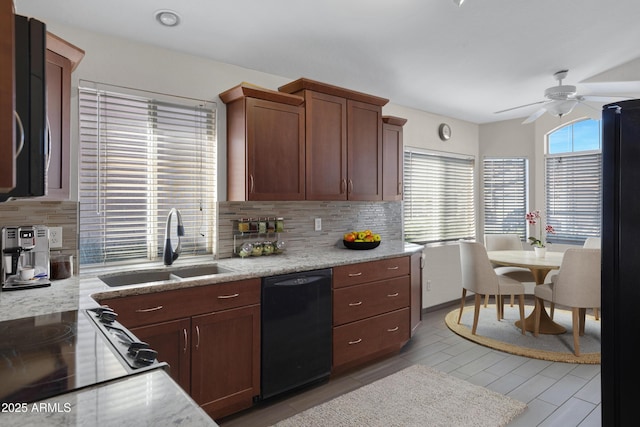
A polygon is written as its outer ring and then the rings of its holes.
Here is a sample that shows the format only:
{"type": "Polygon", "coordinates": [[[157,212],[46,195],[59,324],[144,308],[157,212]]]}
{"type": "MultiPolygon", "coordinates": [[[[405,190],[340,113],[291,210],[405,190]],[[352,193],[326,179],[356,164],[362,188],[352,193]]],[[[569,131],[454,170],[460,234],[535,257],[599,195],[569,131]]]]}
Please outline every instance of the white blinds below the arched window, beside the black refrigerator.
{"type": "Polygon", "coordinates": [[[602,222],[602,154],[546,158],[546,223],[556,234],[548,240],[582,244],[599,237],[602,222]]]}

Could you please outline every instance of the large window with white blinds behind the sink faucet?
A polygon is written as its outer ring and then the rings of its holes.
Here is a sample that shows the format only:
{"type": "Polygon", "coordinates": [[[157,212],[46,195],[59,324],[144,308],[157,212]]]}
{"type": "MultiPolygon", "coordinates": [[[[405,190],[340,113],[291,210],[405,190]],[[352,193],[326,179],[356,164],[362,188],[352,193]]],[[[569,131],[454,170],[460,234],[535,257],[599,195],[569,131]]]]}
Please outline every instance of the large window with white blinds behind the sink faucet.
{"type": "Polygon", "coordinates": [[[212,253],[215,104],[126,92],[79,91],[80,263],[161,259],[172,207],[182,256],[212,253]]]}

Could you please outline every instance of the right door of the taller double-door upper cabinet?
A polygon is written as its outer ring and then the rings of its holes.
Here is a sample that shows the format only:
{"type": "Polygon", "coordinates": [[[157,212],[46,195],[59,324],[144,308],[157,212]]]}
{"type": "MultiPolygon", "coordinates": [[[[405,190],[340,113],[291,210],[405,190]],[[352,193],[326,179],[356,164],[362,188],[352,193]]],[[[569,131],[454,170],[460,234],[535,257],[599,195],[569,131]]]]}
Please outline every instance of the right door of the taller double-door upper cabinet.
{"type": "Polygon", "coordinates": [[[382,108],[347,101],[349,200],[382,200],[382,108]]]}

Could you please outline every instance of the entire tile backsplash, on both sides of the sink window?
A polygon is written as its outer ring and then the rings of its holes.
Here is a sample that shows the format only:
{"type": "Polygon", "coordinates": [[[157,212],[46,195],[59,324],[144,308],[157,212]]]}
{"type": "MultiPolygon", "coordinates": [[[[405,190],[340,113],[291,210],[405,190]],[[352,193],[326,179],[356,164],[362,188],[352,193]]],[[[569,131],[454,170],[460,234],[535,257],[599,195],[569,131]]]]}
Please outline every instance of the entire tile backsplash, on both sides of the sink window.
{"type": "MultiPolygon", "coordinates": [[[[78,274],[78,209],[75,201],[11,200],[0,203],[0,226],[62,227],[63,247],[52,252],[73,255],[78,274]]],[[[265,216],[284,218],[280,239],[288,251],[335,246],[344,233],[367,228],[383,240],[402,239],[402,202],[219,202],[216,257],[233,256],[234,220],[265,216]],[[321,218],[322,231],[314,230],[315,218],[321,218]]]]}

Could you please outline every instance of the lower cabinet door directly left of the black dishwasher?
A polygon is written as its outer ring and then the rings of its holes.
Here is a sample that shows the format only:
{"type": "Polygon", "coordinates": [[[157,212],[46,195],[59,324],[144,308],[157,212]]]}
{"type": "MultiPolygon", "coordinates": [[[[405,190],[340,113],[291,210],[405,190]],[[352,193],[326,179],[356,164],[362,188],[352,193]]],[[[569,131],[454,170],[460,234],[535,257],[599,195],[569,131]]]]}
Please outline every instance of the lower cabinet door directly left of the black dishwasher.
{"type": "Polygon", "coordinates": [[[191,397],[214,419],[260,394],[260,306],[194,316],[191,397]]]}

